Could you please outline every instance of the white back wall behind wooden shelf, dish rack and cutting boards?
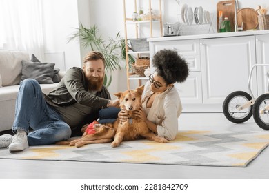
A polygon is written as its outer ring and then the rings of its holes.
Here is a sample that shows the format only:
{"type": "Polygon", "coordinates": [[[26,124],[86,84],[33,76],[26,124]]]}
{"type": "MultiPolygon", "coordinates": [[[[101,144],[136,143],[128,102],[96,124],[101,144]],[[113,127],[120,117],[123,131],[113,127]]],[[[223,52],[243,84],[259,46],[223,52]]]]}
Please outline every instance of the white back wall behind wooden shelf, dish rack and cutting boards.
{"type": "MultiPolygon", "coordinates": [[[[90,1],[90,23],[91,25],[97,24],[101,29],[101,34],[103,37],[114,37],[117,32],[121,32],[121,36],[124,37],[124,28],[123,28],[123,0],[89,0],[90,1]]],[[[162,14],[163,14],[163,23],[165,22],[176,22],[177,14],[181,12],[181,6],[184,3],[187,3],[188,6],[191,6],[193,9],[197,6],[203,6],[204,10],[208,10],[215,15],[215,21],[213,26],[215,32],[217,30],[217,0],[184,0],[180,1],[180,5],[177,4],[175,0],[162,0],[162,14]]],[[[159,6],[158,0],[152,0],[152,7],[154,10],[159,6]]],[[[239,8],[257,8],[258,5],[269,8],[269,0],[239,0],[239,8]]],[[[131,17],[133,10],[133,1],[126,1],[126,6],[128,10],[126,14],[128,17],[131,17]]],[[[139,7],[143,7],[145,12],[148,11],[148,1],[141,0],[139,7]]],[[[158,26],[157,26],[158,28],[158,26]]],[[[146,32],[144,32],[146,33],[146,32]]],[[[131,34],[131,33],[130,33],[131,34]]],[[[134,34],[131,34],[134,37],[134,34]]],[[[159,32],[154,32],[154,37],[159,36],[159,32]]],[[[110,92],[117,92],[119,90],[126,90],[126,72],[124,68],[121,72],[114,72],[112,79],[112,86],[110,86],[110,92]]]]}

